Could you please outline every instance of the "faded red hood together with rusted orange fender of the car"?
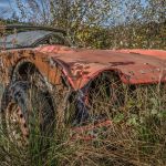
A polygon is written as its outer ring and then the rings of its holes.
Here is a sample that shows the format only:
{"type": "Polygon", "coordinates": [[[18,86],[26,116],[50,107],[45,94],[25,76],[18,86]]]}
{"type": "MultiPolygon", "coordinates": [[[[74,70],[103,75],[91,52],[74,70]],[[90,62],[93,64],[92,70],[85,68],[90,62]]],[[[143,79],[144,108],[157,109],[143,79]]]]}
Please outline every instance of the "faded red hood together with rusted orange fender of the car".
{"type": "Polygon", "coordinates": [[[64,75],[74,90],[82,89],[104,71],[117,71],[125,84],[166,82],[166,51],[132,52],[48,45],[1,54],[7,69],[24,59],[34,63],[50,83],[59,84],[60,76],[64,75]]]}

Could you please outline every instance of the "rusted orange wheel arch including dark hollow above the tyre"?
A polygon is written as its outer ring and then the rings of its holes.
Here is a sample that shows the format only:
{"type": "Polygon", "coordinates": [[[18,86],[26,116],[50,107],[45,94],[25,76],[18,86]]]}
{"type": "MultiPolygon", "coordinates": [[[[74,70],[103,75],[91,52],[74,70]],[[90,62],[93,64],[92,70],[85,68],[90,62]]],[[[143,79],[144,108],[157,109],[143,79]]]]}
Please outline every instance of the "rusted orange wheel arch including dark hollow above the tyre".
{"type": "Polygon", "coordinates": [[[45,53],[34,50],[17,50],[3,52],[1,58],[4,64],[2,83],[6,85],[10,84],[15,72],[25,74],[25,70],[31,65],[39,71],[48,83],[59,85],[63,79],[63,83],[72,87],[71,81],[64,73],[64,66],[45,53]]]}

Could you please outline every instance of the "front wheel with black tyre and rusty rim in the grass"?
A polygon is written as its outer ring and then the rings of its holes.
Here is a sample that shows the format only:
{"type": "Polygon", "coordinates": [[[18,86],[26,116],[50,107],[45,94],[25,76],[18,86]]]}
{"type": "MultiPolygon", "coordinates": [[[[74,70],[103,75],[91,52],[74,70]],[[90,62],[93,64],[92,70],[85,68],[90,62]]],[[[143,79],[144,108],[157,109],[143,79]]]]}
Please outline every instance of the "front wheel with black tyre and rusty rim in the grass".
{"type": "Polygon", "coordinates": [[[51,96],[27,81],[17,81],[6,90],[1,116],[3,131],[18,145],[30,141],[33,144],[37,137],[43,144],[53,134],[55,118],[51,96]]]}

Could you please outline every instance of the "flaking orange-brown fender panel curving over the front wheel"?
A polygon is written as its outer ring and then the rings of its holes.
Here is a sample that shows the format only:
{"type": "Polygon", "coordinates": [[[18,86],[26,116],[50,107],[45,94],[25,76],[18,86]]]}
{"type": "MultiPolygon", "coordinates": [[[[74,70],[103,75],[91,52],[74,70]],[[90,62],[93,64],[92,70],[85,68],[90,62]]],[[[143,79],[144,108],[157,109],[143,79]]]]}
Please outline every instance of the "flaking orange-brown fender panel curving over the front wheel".
{"type": "Polygon", "coordinates": [[[4,51],[0,53],[1,60],[1,82],[3,84],[10,83],[10,77],[18,63],[31,62],[35,64],[43,77],[52,84],[60,84],[60,77],[62,76],[62,71],[56,63],[52,64],[52,61],[45,54],[37,52],[34,50],[12,50],[4,51]]]}

